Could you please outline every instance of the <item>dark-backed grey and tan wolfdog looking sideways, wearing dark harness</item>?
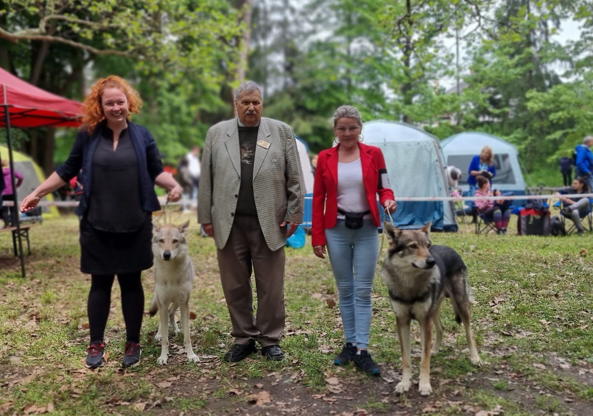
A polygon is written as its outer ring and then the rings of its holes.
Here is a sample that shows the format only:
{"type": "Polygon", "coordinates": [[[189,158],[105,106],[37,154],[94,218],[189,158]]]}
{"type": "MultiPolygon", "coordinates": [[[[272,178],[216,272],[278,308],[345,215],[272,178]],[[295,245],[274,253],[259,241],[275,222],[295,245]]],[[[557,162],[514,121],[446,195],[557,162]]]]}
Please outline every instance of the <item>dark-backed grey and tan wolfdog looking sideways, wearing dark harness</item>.
{"type": "Polygon", "coordinates": [[[431,353],[438,353],[441,347],[444,329],[441,305],[445,297],[451,299],[457,323],[463,322],[466,328],[471,363],[474,366],[482,365],[471,331],[470,302],[473,300],[473,291],[467,281],[467,267],[454,249],[444,245],[431,245],[430,229],[430,223],[419,230],[400,230],[388,222],[383,226],[383,232],[390,239],[390,247],[383,262],[382,275],[389,290],[391,306],[396,313],[397,335],[401,345],[403,375],[396,386],[397,393],[407,392],[412,385],[412,319],[420,324],[422,359],[419,391],[423,396],[432,393],[431,353]],[[436,337],[431,350],[433,323],[436,337]]]}

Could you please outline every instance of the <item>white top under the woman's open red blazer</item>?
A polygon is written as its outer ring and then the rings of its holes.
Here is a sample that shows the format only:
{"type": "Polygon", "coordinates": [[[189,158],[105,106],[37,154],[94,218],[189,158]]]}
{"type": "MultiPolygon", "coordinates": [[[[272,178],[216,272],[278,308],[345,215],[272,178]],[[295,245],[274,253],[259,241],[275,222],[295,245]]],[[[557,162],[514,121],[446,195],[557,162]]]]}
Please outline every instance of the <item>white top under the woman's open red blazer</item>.
{"type": "MultiPolygon", "coordinates": [[[[337,207],[345,212],[365,212],[369,210],[366,201],[365,185],[362,181],[362,164],[358,158],[353,162],[337,164],[337,207]]],[[[338,213],[338,218],[344,215],[338,213]]],[[[367,214],[364,218],[371,218],[367,214]]]]}

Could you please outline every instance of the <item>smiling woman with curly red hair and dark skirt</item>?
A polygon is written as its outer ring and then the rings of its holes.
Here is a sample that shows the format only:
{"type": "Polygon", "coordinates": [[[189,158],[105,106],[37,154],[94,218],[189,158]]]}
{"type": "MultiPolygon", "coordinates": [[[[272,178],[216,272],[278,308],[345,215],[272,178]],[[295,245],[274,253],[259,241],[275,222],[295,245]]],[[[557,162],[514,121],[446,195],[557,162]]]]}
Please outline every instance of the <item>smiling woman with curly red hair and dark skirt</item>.
{"type": "Polygon", "coordinates": [[[25,197],[21,210],[62,187],[82,168],[80,221],[81,271],[91,274],[88,295],[90,346],[86,364],[103,365],[104,332],[117,275],[126,323],[123,367],[140,361],[144,313],[142,270],[152,267],[152,212],[160,210],[154,185],[177,201],[181,187],[162,168],[157,145],[145,127],[130,121],[142,101],[119,76],[97,81],[84,102],[84,118],[68,160],[25,197]]]}

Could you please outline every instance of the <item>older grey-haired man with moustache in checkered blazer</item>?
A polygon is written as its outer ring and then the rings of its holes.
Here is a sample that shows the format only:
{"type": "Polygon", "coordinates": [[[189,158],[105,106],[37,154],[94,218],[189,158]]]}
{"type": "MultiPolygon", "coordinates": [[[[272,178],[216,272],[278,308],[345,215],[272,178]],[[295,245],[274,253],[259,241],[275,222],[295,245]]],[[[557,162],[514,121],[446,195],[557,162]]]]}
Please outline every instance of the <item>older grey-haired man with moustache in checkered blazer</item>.
{"type": "Polygon", "coordinates": [[[208,130],[202,151],[198,221],[213,236],[234,346],[225,359],[257,352],[282,360],[284,245],[302,222],[305,187],[292,128],[262,117],[252,81],[235,92],[238,117],[208,130]],[[251,269],[256,280],[253,316],[251,269]]]}

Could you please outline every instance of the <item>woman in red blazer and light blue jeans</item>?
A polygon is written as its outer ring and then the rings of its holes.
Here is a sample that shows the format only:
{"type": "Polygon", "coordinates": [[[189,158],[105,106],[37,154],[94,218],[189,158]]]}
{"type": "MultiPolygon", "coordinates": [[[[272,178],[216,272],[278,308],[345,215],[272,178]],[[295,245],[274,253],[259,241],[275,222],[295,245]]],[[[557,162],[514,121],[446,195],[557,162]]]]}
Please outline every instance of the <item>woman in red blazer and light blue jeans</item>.
{"type": "Polygon", "coordinates": [[[368,375],[379,369],[368,353],[371,294],[379,253],[377,194],[390,213],[397,209],[381,149],[362,144],[362,117],[352,105],[334,113],[338,145],[319,153],[313,188],[313,251],[326,245],[336,278],[346,344],[336,365],[354,361],[368,375]]]}

